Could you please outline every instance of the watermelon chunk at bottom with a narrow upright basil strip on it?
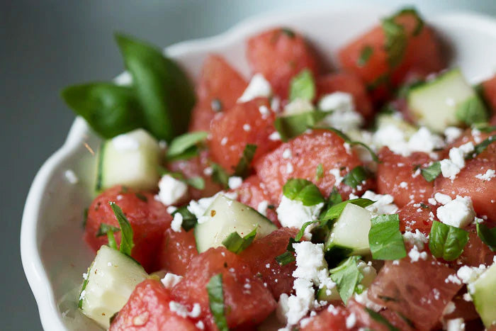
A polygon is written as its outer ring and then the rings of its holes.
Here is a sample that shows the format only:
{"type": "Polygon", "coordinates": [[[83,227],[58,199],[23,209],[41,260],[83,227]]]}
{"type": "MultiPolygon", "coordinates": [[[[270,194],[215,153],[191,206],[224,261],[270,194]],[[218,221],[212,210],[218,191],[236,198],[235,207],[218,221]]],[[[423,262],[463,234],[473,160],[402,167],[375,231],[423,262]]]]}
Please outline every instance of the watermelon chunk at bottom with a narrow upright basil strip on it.
{"type": "Polygon", "coordinates": [[[184,279],[172,288],[174,298],[188,307],[198,303],[201,318],[211,324],[205,286],[216,274],[222,274],[225,315],[230,328],[257,325],[276,308],[276,301],[263,282],[240,257],[224,247],[210,248],[191,260],[184,279]]]}

